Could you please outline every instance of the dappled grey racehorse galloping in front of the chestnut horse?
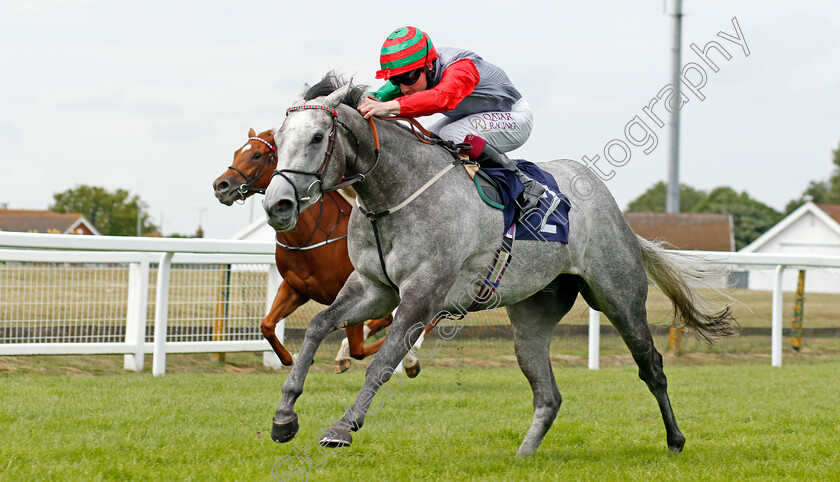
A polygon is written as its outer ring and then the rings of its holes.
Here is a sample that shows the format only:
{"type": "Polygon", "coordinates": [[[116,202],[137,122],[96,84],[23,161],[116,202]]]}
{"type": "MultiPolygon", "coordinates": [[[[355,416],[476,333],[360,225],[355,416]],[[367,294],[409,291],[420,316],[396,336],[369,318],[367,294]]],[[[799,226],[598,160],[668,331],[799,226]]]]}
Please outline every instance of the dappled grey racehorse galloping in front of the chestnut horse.
{"type": "MultiPolygon", "coordinates": [[[[347,324],[385,316],[399,304],[354,404],[319,438],[323,445],[349,445],[377,390],[422,328],[437,316],[464,314],[502,243],[501,211],[482,202],[463,168],[452,168],[449,151],[418,142],[398,123],[377,119],[369,124],[354,108],[364,89],[340,83],[331,94],[296,101],[287,111],[275,137],[278,170],[263,201],[268,223],[291,229],[299,212],[322,191],[360,181],[354,188],[362,209],[353,210],[349,225],[355,271],[335,302],[306,330],[273,419],[271,436],[277,442],[291,440],[299,429],[294,403],[322,340],[347,324]]],[[[540,167],[570,198],[568,244],[518,241],[511,253],[515,261],[492,303],[507,308],[516,358],[533,391],[534,417],[517,455],[530,455],[539,447],[560,408],[549,345],[555,325],[578,293],[621,334],[639,377],[659,404],[668,447],[680,452],[685,437],[671,409],[662,356],[647,322],[648,280],[671,299],[676,319],[710,343],[732,334],[734,319],[728,308],[709,305],[689,285],[696,271],[633,232],[590,170],[570,160],[540,167]]]]}

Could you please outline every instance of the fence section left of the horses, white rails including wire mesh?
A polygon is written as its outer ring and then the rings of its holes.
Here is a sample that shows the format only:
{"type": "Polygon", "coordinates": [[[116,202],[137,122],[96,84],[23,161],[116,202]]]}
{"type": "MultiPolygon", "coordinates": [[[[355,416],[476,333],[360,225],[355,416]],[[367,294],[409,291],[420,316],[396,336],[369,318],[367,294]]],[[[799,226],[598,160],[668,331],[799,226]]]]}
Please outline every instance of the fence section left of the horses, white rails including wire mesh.
{"type": "Polygon", "coordinates": [[[17,248],[0,249],[2,355],[125,354],[141,371],[151,352],[162,375],[167,353],[271,349],[254,323],[280,282],[270,242],[0,233],[0,246],[17,248]]]}

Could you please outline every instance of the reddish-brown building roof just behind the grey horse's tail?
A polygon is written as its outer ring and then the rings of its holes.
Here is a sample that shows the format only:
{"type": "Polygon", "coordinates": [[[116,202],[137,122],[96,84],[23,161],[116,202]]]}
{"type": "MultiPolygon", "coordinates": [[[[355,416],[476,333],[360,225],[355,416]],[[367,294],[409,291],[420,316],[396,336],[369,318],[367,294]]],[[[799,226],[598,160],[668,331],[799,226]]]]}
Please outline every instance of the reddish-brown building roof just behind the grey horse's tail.
{"type": "Polygon", "coordinates": [[[648,240],[667,241],[678,249],[735,251],[731,214],[624,213],[630,227],[648,240]]]}

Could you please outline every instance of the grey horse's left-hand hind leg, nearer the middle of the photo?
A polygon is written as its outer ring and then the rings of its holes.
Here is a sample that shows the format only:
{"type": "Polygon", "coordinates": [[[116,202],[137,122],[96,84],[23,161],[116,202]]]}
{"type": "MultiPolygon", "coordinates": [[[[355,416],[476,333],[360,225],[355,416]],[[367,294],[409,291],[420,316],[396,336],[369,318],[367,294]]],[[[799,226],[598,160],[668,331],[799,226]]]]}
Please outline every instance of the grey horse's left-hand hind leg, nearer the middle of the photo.
{"type": "Polygon", "coordinates": [[[577,289],[570,279],[558,278],[548,291],[507,307],[513,327],[516,359],[534,394],[534,419],[517,456],[533,454],[560,409],[562,397],[554,380],[549,345],[554,327],[574,305],[577,289]]]}

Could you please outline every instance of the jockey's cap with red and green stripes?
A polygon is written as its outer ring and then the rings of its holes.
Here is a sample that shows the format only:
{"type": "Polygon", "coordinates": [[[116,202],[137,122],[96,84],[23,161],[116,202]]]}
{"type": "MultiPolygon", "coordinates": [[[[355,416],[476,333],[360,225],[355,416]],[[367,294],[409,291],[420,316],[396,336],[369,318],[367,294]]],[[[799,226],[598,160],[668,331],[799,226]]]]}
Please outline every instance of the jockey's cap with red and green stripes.
{"type": "Polygon", "coordinates": [[[382,44],[377,79],[390,79],[395,75],[411,72],[437,58],[432,39],[415,27],[402,27],[391,32],[382,44]]]}

